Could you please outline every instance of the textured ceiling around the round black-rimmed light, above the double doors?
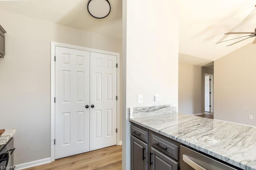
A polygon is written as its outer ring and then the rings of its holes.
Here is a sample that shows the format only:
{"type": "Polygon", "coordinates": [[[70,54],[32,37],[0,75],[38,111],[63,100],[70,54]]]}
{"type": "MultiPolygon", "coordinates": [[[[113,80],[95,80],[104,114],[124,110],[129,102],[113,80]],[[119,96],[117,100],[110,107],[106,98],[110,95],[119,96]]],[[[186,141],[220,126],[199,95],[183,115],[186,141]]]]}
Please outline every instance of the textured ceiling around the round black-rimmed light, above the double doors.
{"type": "Polygon", "coordinates": [[[109,0],[110,14],[103,19],[90,16],[88,0],[0,1],[0,10],[122,38],[122,0],[109,0]]]}

